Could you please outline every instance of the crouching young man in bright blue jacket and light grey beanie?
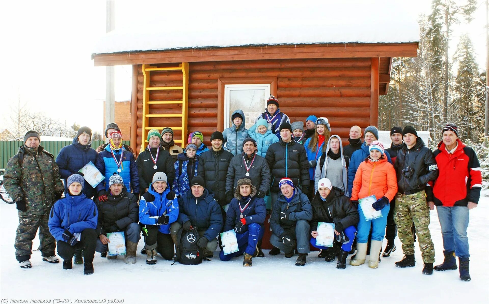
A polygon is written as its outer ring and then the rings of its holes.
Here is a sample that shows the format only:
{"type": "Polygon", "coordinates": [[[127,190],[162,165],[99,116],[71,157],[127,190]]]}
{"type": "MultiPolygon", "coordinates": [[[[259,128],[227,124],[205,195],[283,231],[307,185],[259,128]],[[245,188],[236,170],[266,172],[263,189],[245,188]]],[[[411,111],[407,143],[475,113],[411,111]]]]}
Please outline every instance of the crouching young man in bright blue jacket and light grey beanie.
{"type": "Polygon", "coordinates": [[[147,264],[156,264],[156,253],[167,261],[172,260],[175,250],[170,224],[177,217],[177,196],[168,188],[166,174],[156,172],[148,191],[139,201],[139,223],[143,231],[147,264]]]}

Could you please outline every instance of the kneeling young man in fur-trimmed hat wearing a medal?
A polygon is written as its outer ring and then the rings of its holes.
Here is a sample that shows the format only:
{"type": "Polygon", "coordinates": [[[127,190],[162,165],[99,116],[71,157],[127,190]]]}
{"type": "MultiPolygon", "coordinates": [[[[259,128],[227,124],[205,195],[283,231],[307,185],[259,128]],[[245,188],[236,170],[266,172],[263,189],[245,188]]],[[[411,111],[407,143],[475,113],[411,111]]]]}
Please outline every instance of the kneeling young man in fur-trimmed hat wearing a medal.
{"type": "Polygon", "coordinates": [[[234,191],[234,199],[229,203],[226,212],[224,231],[234,229],[239,251],[224,255],[221,250],[221,261],[229,261],[244,252],[244,267],[251,266],[251,258],[258,255],[258,241],[263,238],[263,223],[267,216],[267,207],[262,198],[256,197],[256,187],[250,179],[241,179],[234,191]]]}

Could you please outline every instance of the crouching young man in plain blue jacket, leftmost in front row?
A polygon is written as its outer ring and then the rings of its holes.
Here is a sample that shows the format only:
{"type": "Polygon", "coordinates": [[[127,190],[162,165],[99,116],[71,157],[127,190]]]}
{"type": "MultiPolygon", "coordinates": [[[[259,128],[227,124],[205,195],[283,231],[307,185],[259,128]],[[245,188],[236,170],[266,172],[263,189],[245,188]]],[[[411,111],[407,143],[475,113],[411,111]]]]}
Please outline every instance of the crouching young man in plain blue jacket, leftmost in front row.
{"type": "Polygon", "coordinates": [[[63,269],[72,268],[76,249],[83,249],[84,274],[93,273],[93,256],[97,241],[97,207],[83,193],[85,180],[79,174],[67,179],[67,196],[54,203],[49,213],[49,232],[56,239],[63,269]]]}

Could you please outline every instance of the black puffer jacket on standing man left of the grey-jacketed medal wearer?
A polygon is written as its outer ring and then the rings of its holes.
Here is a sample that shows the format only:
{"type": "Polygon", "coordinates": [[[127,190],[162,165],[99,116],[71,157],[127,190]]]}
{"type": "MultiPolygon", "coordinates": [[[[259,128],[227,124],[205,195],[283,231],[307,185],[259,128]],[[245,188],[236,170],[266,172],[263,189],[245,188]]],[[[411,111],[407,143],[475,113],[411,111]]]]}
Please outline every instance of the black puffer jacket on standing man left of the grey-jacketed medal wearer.
{"type": "Polygon", "coordinates": [[[212,191],[214,199],[221,205],[226,202],[226,175],[229,162],[233,158],[231,152],[223,148],[219,151],[209,150],[200,154],[197,175],[204,179],[205,188],[212,191]]]}

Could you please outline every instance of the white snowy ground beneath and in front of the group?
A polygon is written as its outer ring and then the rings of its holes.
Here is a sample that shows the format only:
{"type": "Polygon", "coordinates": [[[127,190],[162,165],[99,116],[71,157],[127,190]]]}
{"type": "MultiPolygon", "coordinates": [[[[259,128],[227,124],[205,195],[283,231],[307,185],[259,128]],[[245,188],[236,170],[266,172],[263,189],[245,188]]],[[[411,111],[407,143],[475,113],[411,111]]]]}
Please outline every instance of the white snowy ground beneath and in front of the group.
{"type": "MultiPolygon", "coordinates": [[[[484,193],[485,194],[485,193],[484,193]]],[[[483,195],[484,195],[483,194],[483,195]]],[[[21,269],[15,260],[14,238],[18,224],[15,205],[0,204],[0,303],[12,299],[50,300],[75,299],[124,300],[123,303],[145,303],[156,300],[175,303],[177,300],[206,303],[233,301],[234,303],[277,303],[322,300],[331,303],[341,300],[351,303],[487,303],[489,296],[488,216],[489,198],[481,199],[470,212],[468,235],[470,242],[471,282],[462,282],[458,270],[435,271],[422,275],[422,259],[416,243],[416,267],[397,268],[394,262],[402,258],[398,249],[388,258],[382,258],[378,269],[367,265],[344,270],[336,269],[336,262],[318,259],[317,252],[309,254],[306,266],[294,265],[296,256],[286,259],[283,254],[253,259],[253,267],[244,268],[242,257],[229,262],[213,258],[196,266],[185,266],[159,259],[156,265],[145,263],[139,253],[137,262],[127,265],[122,259],[108,261],[95,255],[95,273],[83,275],[83,265],[63,270],[62,264],[49,264],[34,251],[31,269],[21,269]],[[354,299],[349,299],[353,295],[354,299]],[[486,299],[486,300],[484,300],[486,299]]],[[[443,244],[436,210],[431,212],[431,235],[436,249],[435,264],[443,262],[443,244]]],[[[37,248],[39,241],[34,241],[37,248]]],[[[384,243],[385,246],[385,243],[384,243]]],[[[217,256],[217,252],[215,256],[217,256]]],[[[349,261],[350,257],[347,261],[349,261]]],[[[71,301],[71,302],[70,302],[71,301]]],[[[49,303],[49,302],[46,302],[49,303]]],[[[78,302],[81,303],[81,302],[78,302]]],[[[116,302],[117,303],[117,302],[116,302]]],[[[122,303],[118,302],[118,303],[122,303]]]]}

